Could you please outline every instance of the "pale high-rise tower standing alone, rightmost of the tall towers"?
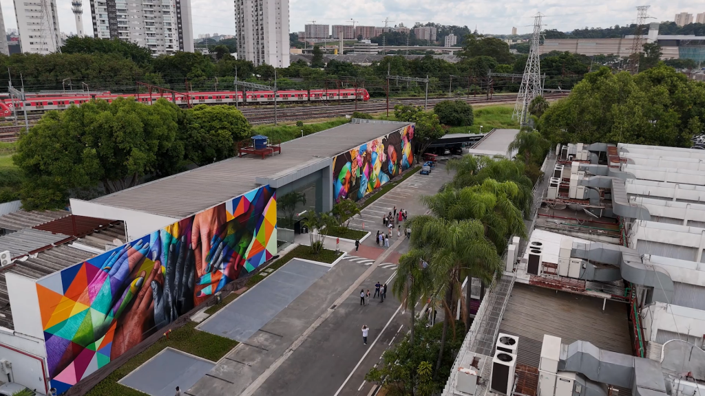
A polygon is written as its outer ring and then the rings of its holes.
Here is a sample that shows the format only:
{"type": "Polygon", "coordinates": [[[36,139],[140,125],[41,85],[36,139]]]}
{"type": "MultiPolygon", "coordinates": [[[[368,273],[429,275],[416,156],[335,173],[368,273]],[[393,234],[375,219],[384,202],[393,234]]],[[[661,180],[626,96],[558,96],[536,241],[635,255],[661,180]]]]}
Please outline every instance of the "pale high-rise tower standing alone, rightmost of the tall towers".
{"type": "Polygon", "coordinates": [[[289,66],[289,0],[235,0],[238,59],[289,66]]]}

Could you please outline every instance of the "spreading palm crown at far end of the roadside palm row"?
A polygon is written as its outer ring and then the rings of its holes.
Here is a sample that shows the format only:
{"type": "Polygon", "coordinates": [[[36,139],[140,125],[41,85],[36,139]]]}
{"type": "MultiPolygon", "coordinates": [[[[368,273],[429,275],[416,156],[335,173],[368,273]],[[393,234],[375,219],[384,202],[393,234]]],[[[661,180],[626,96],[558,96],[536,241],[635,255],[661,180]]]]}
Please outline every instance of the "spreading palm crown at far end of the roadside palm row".
{"type": "Polygon", "coordinates": [[[505,158],[482,156],[464,156],[462,159],[448,161],[448,171],[456,171],[453,181],[443,190],[450,188],[462,189],[481,185],[485,180],[494,179],[498,182],[514,182],[519,189],[510,199],[525,217],[531,213],[534,183],[525,174],[525,166],[518,161],[505,158]]]}

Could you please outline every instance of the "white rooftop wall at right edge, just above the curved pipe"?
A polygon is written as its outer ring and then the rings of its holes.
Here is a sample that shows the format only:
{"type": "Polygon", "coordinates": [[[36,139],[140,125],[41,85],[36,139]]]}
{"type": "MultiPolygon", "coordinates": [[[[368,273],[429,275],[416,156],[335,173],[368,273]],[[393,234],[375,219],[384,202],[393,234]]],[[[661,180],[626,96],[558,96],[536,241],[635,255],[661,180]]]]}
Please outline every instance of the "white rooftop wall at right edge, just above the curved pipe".
{"type": "Polygon", "coordinates": [[[654,341],[659,329],[697,337],[705,334],[705,316],[699,309],[655,302],[642,309],[641,315],[647,341],[654,341]]]}

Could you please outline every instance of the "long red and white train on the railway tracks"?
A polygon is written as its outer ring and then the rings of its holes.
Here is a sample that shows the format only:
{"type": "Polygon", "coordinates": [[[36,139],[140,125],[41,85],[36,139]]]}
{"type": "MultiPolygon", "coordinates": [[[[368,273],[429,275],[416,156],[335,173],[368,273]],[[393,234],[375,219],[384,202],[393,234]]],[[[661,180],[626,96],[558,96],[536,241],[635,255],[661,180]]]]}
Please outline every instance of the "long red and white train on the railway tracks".
{"type": "MultiPolygon", "coordinates": [[[[161,97],[159,92],[149,94],[111,94],[111,92],[87,92],[85,94],[27,94],[24,101],[15,100],[17,110],[27,109],[27,111],[46,111],[66,109],[72,104],[80,105],[91,99],[104,99],[113,101],[118,97],[134,97],[136,101],[151,104],[161,97]]],[[[235,102],[246,103],[274,103],[274,92],[272,91],[218,91],[218,92],[190,92],[188,94],[165,93],[164,99],[174,101],[180,106],[186,106],[190,102],[192,106],[196,104],[235,104],[235,102]],[[243,94],[246,97],[243,99],[243,94]],[[237,98],[235,97],[237,96],[237,98]],[[188,97],[188,99],[187,99],[188,97]]],[[[279,91],[277,101],[280,103],[305,102],[305,101],[368,101],[369,93],[367,89],[310,89],[306,91],[279,91]]],[[[9,97],[0,98],[0,118],[12,115],[13,103],[9,97]]]]}

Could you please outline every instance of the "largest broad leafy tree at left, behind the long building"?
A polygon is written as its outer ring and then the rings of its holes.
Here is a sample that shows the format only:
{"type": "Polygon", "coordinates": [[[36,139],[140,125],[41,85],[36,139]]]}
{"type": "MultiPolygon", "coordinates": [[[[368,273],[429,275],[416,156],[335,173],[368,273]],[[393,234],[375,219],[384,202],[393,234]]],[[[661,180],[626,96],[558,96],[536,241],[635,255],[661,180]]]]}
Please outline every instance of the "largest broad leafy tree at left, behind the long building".
{"type": "Polygon", "coordinates": [[[99,184],[116,192],[137,185],[148,173],[180,171],[173,166],[183,159],[177,142],[179,111],[166,99],[147,106],[123,98],[49,111],[20,136],[13,157],[25,175],[23,206],[61,208],[70,192],[99,184]]]}

